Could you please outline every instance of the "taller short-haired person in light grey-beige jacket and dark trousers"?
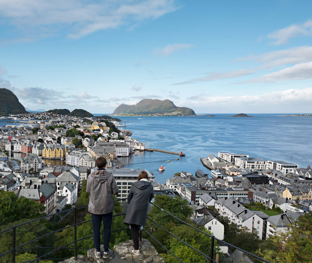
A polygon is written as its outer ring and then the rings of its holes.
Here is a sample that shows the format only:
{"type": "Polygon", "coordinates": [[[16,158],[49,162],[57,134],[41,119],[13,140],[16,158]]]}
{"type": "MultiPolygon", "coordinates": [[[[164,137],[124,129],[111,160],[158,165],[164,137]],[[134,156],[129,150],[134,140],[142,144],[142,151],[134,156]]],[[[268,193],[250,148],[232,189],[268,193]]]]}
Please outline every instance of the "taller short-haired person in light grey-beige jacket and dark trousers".
{"type": "Polygon", "coordinates": [[[95,163],[98,170],[92,172],[87,179],[86,192],[90,194],[88,211],[91,213],[92,217],[95,257],[101,257],[100,227],[101,221],[103,221],[103,258],[108,258],[113,254],[113,252],[109,249],[110,231],[114,211],[113,194],[118,194],[119,189],[114,175],[105,170],[107,163],[106,159],[104,157],[99,157],[96,159],[95,163]]]}

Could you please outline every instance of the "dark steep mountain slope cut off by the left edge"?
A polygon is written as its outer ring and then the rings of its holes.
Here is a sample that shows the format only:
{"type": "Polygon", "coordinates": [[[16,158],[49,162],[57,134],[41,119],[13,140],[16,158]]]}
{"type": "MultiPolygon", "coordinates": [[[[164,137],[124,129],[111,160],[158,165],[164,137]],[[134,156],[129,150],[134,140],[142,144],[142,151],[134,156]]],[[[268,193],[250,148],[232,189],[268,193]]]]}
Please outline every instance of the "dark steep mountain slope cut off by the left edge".
{"type": "Polygon", "coordinates": [[[27,113],[11,90],[0,88],[0,115],[27,113]]]}

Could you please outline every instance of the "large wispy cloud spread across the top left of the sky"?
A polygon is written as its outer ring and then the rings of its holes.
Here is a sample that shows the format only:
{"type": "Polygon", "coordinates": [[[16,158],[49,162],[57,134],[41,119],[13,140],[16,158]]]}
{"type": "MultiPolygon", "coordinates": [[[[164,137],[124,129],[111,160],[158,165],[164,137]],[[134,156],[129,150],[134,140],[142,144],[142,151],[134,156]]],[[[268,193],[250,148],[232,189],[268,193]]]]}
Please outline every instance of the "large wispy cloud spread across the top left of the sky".
{"type": "Polygon", "coordinates": [[[22,41],[57,35],[69,27],[70,38],[98,30],[137,25],[176,11],[176,0],[84,1],[84,0],[0,0],[2,21],[25,32],[22,41]],[[30,34],[31,32],[31,34],[30,34]],[[32,36],[33,35],[33,36],[32,36]],[[27,36],[27,37],[26,37],[27,36]]]}

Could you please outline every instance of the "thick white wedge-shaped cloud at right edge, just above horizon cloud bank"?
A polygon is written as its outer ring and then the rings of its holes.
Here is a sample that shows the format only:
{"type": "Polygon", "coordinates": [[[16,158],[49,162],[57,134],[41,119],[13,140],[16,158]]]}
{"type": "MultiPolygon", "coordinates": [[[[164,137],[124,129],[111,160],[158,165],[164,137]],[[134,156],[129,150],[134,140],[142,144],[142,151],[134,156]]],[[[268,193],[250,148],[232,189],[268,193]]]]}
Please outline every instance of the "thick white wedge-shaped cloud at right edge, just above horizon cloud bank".
{"type": "Polygon", "coordinates": [[[249,79],[241,83],[253,83],[253,82],[277,82],[285,80],[299,80],[299,79],[312,79],[312,62],[296,64],[292,67],[281,69],[277,72],[262,75],[258,78],[249,79]]]}

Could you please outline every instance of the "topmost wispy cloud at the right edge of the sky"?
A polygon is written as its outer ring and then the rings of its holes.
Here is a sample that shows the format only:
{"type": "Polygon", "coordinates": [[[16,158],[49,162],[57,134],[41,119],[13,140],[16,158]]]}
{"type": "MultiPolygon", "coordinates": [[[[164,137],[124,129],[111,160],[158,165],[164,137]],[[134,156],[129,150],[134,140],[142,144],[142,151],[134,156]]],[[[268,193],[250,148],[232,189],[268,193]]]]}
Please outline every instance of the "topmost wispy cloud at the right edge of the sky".
{"type": "Polygon", "coordinates": [[[312,35],[312,20],[298,25],[291,25],[280,30],[270,33],[267,37],[276,40],[273,45],[282,45],[289,41],[290,38],[298,36],[312,35]]]}

